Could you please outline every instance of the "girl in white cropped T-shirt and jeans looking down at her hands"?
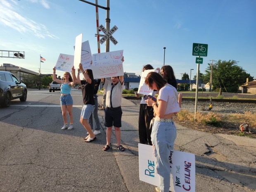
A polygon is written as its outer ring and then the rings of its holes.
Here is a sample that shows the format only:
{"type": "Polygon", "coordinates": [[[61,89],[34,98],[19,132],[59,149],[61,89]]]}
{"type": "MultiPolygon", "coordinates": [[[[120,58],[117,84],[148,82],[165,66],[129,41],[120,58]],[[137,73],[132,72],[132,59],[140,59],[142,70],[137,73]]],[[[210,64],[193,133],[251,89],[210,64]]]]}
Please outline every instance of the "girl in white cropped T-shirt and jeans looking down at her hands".
{"type": "MultiPolygon", "coordinates": [[[[169,156],[177,135],[172,117],[180,111],[178,92],[156,72],[148,73],[145,84],[159,91],[157,101],[148,99],[147,105],[152,106],[156,114],[152,124],[151,140],[156,157],[156,170],[160,175],[159,188],[161,192],[169,192],[171,171],[169,156]]],[[[160,190],[156,187],[156,191],[160,190]]]]}

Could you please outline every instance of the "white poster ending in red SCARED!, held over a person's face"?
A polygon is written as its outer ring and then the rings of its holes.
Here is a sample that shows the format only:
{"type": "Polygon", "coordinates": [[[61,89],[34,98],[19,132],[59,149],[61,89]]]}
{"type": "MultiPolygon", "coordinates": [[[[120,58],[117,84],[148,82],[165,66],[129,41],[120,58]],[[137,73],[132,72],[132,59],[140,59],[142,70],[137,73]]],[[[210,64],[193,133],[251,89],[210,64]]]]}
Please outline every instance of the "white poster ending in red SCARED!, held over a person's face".
{"type": "Polygon", "coordinates": [[[123,76],[123,50],[92,55],[93,78],[123,76]]]}

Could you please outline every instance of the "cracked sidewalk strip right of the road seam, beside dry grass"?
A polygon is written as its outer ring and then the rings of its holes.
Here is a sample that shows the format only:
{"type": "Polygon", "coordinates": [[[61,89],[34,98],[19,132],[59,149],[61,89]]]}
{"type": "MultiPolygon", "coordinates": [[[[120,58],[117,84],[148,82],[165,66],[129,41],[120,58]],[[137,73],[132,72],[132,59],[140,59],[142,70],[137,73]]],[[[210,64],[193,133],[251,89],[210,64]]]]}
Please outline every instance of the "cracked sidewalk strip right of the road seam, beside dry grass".
{"type": "MultiPolygon", "coordinates": [[[[101,97],[98,97],[101,103],[101,97]]],[[[139,180],[139,106],[122,98],[121,140],[125,153],[114,153],[129,192],[154,191],[154,186],[139,180]]],[[[99,113],[103,117],[103,111],[99,113]]],[[[245,192],[256,190],[256,140],[234,135],[210,134],[176,124],[175,150],[194,153],[197,192],[245,192]]],[[[105,131],[104,124],[102,128],[105,131]]],[[[116,145],[114,131],[111,137],[116,145]]],[[[114,147],[113,147],[114,148],[114,147]]],[[[113,149],[114,151],[114,149],[113,149]]]]}

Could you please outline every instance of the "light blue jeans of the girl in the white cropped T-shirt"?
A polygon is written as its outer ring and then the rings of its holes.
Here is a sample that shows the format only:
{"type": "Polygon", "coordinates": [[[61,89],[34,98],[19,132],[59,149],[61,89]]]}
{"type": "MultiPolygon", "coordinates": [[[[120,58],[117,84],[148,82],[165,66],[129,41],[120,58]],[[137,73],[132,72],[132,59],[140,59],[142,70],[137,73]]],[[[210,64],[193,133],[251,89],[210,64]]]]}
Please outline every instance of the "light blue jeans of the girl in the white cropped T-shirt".
{"type": "Polygon", "coordinates": [[[156,171],[160,175],[161,192],[169,192],[170,189],[170,161],[169,156],[173,150],[177,132],[173,121],[154,121],[152,126],[151,140],[155,147],[156,171]]]}

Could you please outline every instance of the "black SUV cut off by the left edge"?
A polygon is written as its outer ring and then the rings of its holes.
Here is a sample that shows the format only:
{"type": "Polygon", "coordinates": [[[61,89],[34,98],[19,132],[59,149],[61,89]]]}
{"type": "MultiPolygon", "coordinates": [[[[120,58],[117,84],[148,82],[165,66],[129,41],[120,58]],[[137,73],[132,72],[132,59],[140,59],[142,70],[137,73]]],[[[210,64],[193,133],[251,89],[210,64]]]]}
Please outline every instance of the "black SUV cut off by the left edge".
{"type": "Polygon", "coordinates": [[[18,99],[27,100],[27,88],[24,83],[19,82],[14,74],[8,71],[0,71],[0,105],[9,107],[10,101],[18,99]]]}

